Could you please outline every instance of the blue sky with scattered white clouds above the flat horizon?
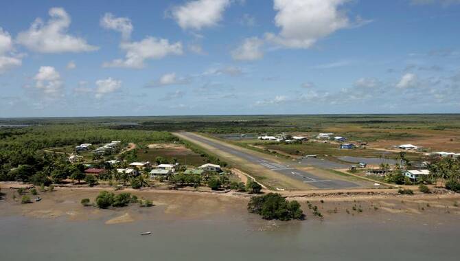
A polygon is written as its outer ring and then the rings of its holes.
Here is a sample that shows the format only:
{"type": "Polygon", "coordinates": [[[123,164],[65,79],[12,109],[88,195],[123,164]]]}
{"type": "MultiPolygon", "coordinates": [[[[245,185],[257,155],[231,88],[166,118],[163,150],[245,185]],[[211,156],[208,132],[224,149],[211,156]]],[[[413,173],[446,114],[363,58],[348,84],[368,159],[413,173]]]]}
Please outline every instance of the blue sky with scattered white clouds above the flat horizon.
{"type": "Polygon", "coordinates": [[[0,5],[0,117],[460,109],[458,0],[0,5]]]}

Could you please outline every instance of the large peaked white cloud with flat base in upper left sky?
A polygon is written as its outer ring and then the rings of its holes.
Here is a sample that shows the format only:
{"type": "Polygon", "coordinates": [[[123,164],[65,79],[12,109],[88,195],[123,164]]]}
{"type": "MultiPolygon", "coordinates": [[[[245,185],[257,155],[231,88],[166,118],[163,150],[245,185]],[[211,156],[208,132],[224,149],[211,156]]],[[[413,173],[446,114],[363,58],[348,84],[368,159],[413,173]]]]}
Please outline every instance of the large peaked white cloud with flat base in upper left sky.
{"type": "Polygon", "coordinates": [[[17,42],[41,53],[90,52],[98,49],[89,45],[84,38],[67,34],[71,19],[63,8],[51,8],[48,13],[51,18],[47,23],[37,18],[29,30],[18,34],[17,42]]]}

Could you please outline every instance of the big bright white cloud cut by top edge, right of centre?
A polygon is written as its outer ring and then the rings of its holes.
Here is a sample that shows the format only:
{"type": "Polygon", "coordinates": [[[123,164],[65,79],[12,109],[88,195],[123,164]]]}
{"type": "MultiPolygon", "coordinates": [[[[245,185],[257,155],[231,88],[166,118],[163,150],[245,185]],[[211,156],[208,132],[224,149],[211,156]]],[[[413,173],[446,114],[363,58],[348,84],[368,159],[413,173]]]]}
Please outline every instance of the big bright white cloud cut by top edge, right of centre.
{"type": "Polygon", "coordinates": [[[309,48],[320,38],[351,25],[343,5],[348,0],[274,0],[279,34],[269,41],[288,48],[309,48]]]}

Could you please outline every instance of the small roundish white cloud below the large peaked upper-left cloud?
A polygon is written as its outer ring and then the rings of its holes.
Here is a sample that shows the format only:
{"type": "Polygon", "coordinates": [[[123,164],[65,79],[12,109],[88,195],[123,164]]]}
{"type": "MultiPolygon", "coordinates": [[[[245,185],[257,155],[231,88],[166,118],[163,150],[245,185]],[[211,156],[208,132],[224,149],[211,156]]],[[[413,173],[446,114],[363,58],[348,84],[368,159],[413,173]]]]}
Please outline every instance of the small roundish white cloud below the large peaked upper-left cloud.
{"type": "Polygon", "coordinates": [[[34,80],[36,81],[35,87],[50,96],[58,96],[64,85],[58,71],[51,66],[40,67],[34,80]]]}

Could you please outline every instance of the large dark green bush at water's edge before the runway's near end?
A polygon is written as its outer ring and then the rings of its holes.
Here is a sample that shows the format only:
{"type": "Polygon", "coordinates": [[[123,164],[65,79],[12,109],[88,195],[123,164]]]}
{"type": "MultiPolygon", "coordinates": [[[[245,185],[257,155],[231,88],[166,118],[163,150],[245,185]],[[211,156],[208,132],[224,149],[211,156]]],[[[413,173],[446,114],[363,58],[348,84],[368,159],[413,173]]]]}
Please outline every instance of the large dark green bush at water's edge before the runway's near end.
{"type": "Polygon", "coordinates": [[[264,219],[290,220],[303,219],[304,215],[297,201],[286,201],[277,193],[253,196],[248,203],[250,213],[259,214],[264,219]]]}

